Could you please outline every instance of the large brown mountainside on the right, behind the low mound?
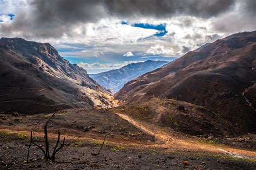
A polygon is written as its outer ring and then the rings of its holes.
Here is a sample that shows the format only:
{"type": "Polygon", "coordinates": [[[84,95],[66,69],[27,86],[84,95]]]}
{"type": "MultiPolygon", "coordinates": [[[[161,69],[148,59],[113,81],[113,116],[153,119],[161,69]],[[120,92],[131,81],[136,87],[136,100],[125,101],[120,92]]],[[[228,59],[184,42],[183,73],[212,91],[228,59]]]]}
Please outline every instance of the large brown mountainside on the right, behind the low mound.
{"type": "Polygon", "coordinates": [[[123,104],[150,96],[201,105],[244,130],[256,130],[256,31],[233,34],[188,52],[125,84],[123,104]]]}

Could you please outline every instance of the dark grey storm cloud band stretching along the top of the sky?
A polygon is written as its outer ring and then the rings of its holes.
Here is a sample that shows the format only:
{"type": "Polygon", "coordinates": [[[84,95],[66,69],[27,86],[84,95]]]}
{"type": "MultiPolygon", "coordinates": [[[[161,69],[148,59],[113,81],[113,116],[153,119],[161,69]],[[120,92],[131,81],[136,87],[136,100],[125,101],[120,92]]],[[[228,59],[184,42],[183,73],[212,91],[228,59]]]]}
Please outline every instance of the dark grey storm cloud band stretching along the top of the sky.
{"type": "MultiPolygon", "coordinates": [[[[96,23],[102,18],[171,18],[187,15],[211,18],[231,10],[234,0],[31,0],[29,11],[19,9],[11,24],[0,25],[2,34],[21,32],[23,37],[72,37],[79,24],[96,23]]],[[[255,1],[245,1],[255,13],[255,1]]],[[[184,26],[191,25],[185,20],[184,26]]],[[[82,32],[86,32],[83,28],[82,32]]]]}

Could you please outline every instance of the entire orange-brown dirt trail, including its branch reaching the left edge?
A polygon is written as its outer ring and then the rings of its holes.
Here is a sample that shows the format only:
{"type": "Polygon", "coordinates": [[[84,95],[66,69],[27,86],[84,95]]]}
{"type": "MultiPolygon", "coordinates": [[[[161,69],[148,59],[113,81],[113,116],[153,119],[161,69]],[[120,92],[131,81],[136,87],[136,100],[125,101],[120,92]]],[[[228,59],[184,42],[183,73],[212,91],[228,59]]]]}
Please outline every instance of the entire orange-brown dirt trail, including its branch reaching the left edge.
{"type": "MultiPolygon", "coordinates": [[[[157,126],[156,124],[150,124],[146,122],[137,121],[127,115],[119,114],[117,112],[113,112],[120,118],[126,120],[137,129],[142,130],[146,134],[150,134],[154,136],[156,141],[152,142],[145,142],[145,141],[137,141],[137,140],[129,140],[129,139],[120,139],[119,136],[108,138],[107,143],[113,145],[126,145],[132,147],[139,147],[139,148],[165,148],[168,150],[174,151],[206,151],[211,153],[225,153],[231,155],[232,157],[236,158],[248,158],[256,160],[256,151],[249,151],[243,150],[240,148],[232,148],[228,146],[216,146],[216,145],[208,145],[204,143],[200,143],[197,139],[185,137],[182,138],[176,133],[163,131],[162,128],[157,126]]],[[[8,125],[0,125],[1,131],[6,132],[15,132],[15,133],[24,133],[29,135],[30,128],[28,126],[8,126],[8,125]]],[[[73,139],[73,140],[97,140],[102,142],[103,138],[99,137],[98,134],[85,134],[84,132],[80,132],[77,130],[70,130],[69,128],[62,128],[60,129],[64,131],[62,136],[65,136],[66,139],[73,139]]],[[[43,131],[35,131],[36,136],[43,137],[43,131]]],[[[57,138],[57,134],[49,133],[49,136],[52,138],[57,138]]]]}

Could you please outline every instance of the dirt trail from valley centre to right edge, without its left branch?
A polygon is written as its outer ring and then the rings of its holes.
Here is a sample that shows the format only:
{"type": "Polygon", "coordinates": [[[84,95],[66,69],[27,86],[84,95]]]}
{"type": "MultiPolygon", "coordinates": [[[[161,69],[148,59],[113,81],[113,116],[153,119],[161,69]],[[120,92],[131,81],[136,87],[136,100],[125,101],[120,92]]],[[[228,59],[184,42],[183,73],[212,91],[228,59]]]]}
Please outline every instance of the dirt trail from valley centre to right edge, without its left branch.
{"type": "Polygon", "coordinates": [[[151,145],[154,147],[166,147],[170,149],[176,148],[178,150],[226,153],[236,158],[249,158],[249,159],[256,160],[256,151],[241,150],[239,148],[232,148],[232,147],[226,147],[226,146],[207,145],[207,144],[199,143],[199,141],[195,141],[192,139],[186,139],[186,140],[178,139],[176,137],[173,137],[170,133],[161,131],[160,128],[157,127],[157,125],[147,124],[145,122],[139,122],[127,115],[119,114],[117,112],[115,112],[114,114],[125,119],[126,121],[136,126],[136,128],[142,130],[143,132],[147,134],[151,134],[152,136],[155,136],[158,140],[163,141],[163,143],[151,145]]]}

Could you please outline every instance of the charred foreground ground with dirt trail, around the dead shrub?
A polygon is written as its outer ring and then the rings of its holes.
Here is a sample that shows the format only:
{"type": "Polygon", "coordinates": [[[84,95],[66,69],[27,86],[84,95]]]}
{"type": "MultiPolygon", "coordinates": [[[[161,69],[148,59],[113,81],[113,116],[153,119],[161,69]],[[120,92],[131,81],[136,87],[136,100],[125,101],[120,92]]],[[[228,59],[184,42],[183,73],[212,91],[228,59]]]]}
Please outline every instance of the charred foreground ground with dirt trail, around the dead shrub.
{"type": "MultiPolygon", "coordinates": [[[[116,110],[117,111],[117,110],[116,110]]],[[[43,145],[43,125],[51,114],[0,114],[0,168],[230,168],[255,169],[255,148],[241,148],[179,131],[167,131],[157,124],[134,119],[125,113],[103,109],[58,111],[49,123],[50,145],[57,140],[57,129],[66,137],[65,146],[52,164],[32,147],[26,161],[29,133],[43,145]],[[113,124],[99,155],[100,144],[113,124]],[[202,140],[202,141],[200,141],[202,140]]],[[[246,143],[244,144],[246,145],[246,143]]],[[[244,146],[242,145],[242,146],[244,146]]],[[[250,145],[253,146],[253,145],[250,145]]],[[[53,150],[51,148],[51,150],[53,150]]]]}

